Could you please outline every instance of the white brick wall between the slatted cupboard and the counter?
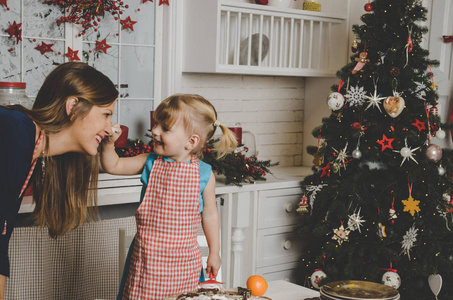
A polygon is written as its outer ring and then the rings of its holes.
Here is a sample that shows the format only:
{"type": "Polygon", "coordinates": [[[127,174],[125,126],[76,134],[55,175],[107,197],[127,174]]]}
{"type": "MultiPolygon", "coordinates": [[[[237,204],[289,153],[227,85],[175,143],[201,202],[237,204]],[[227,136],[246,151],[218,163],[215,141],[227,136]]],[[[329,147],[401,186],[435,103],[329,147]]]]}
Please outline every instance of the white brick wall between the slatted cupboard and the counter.
{"type": "Polygon", "coordinates": [[[181,92],[211,101],[222,124],[252,132],[258,159],[300,166],[304,84],[299,77],[185,73],[181,92]]]}

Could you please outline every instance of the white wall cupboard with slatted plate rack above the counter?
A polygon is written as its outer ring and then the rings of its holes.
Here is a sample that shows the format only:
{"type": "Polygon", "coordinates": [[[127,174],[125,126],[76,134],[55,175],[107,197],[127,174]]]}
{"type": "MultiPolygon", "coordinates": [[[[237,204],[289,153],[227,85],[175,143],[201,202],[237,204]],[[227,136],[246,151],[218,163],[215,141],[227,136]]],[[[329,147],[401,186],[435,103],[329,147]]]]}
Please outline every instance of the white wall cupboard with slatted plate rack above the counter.
{"type": "Polygon", "coordinates": [[[346,63],[348,30],[347,12],[185,1],[182,70],[333,76],[346,63]]]}

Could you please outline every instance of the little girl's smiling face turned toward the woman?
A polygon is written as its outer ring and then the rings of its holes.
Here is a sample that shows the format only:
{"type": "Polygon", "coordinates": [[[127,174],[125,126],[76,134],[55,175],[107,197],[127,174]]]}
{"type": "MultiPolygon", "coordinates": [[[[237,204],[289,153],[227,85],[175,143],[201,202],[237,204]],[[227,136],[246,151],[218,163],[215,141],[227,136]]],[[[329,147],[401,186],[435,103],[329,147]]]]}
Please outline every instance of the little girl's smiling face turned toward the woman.
{"type": "Polygon", "coordinates": [[[176,121],[171,128],[156,123],[152,134],[153,150],[156,154],[175,161],[190,160],[190,150],[187,148],[189,135],[186,133],[182,120],[176,121]]]}

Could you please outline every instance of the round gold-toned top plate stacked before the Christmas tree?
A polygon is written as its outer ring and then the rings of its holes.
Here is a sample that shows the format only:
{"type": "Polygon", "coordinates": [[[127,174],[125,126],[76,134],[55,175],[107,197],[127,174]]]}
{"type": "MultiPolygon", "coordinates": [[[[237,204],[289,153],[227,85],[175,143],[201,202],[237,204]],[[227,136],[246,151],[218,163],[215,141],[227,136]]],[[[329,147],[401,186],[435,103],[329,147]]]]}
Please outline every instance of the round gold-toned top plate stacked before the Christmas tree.
{"type": "Polygon", "coordinates": [[[350,300],[397,300],[399,293],[396,289],[381,283],[344,280],[326,283],[321,287],[326,296],[350,300]]]}

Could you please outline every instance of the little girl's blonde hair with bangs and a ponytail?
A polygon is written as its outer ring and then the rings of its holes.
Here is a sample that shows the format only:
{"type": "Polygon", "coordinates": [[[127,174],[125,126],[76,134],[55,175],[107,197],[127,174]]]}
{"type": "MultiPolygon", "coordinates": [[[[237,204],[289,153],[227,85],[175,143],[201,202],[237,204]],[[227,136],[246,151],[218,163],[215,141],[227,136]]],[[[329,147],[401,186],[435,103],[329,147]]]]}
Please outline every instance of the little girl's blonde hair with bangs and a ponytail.
{"type": "Polygon", "coordinates": [[[214,106],[200,95],[176,94],[170,96],[156,108],[154,118],[168,128],[182,119],[188,134],[200,136],[199,145],[192,151],[192,154],[198,157],[203,155],[203,147],[213,137],[217,127],[222,130],[220,141],[214,148],[217,157],[221,158],[237,147],[234,133],[217,121],[214,106]]]}

